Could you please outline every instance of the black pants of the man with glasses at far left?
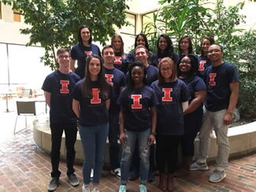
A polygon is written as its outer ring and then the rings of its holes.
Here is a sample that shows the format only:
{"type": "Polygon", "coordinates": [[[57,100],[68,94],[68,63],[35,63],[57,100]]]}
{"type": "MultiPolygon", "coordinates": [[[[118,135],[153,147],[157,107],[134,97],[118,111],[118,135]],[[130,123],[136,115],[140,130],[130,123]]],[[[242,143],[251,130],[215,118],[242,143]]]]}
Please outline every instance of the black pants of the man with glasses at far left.
{"type": "Polygon", "coordinates": [[[76,133],[77,127],[76,123],[69,124],[50,124],[50,132],[51,132],[51,165],[52,172],[50,175],[52,177],[60,177],[61,172],[58,170],[58,166],[60,163],[60,150],[61,150],[61,138],[62,133],[65,131],[65,146],[66,146],[66,163],[67,163],[67,175],[71,175],[75,172],[73,168],[73,164],[75,161],[76,151],[75,151],[75,142],[76,142],[76,133]]]}

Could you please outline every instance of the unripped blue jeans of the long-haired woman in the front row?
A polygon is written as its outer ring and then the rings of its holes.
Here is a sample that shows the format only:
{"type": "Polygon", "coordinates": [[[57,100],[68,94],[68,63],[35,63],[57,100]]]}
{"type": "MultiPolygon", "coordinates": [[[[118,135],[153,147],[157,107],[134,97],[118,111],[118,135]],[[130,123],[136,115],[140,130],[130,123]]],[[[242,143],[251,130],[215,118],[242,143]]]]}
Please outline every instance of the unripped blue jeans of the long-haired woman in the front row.
{"type": "Polygon", "coordinates": [[[91,168],[93,168],[94,178],[92,183],[98,184],[104,164],[109,124],[100,124],[93,127],[81,126],[79,132],[84,154],[83,183],[89,184],[91,182],[91,168]]]}

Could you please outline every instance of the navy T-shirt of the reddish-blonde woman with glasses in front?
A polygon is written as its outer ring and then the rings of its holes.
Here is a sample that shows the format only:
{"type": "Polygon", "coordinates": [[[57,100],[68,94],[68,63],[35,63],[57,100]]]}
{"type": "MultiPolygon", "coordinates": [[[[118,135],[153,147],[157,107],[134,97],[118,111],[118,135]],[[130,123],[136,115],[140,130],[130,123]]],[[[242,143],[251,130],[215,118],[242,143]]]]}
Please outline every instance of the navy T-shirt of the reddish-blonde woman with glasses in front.
{"type": "Polygon", "coordinates": [[[189,92],[186,84],[177,79],[176,82],[151,84],[158,97],[159,105],[157,134],[158,135],[183,135],[184,116],[182,102],[187,102],[189,92]]]}

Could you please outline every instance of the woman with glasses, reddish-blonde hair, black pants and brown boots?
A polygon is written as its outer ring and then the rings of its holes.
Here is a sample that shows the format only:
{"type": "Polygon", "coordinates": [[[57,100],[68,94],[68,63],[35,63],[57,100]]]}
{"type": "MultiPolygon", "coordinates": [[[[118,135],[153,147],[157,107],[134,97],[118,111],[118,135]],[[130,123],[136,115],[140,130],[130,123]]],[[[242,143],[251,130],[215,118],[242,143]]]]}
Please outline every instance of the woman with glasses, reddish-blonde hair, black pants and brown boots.
{"type": "Polygon", "coordinates": [[[159,188],[163,191],[175,189],[173,173],[176,170],[177,150],[184,134],[184,111],[190,97],[186,84],[177,79],[176,64],[164,57],[159,65],[159,78],[151,84],[158,97],[157,106],[157,150],[159,188]],[[165,168],[167,164],[167,172],[165,168]]]}

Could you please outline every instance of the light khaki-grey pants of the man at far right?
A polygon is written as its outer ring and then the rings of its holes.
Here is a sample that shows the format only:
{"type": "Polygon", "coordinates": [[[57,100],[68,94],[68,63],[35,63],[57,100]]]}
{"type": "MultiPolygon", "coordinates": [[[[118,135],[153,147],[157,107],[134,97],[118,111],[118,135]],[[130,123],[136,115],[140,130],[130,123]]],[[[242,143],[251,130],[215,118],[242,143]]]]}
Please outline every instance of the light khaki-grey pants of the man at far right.
{"type": "Polygon", "coordinates": [[[224,168],[228,167],[228,126],[224,124],[224,115],[226,111],[227,109],[222,109],[217,112],[206,110],[202,119],[202,128],[199,133],[198,162],[204,163],[206,162],[210,148],[210,133],[214,129],[218,147],[216,169],[220,171],[224,171],[224,168]]]}

